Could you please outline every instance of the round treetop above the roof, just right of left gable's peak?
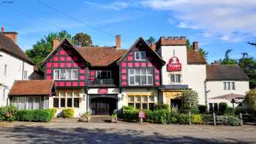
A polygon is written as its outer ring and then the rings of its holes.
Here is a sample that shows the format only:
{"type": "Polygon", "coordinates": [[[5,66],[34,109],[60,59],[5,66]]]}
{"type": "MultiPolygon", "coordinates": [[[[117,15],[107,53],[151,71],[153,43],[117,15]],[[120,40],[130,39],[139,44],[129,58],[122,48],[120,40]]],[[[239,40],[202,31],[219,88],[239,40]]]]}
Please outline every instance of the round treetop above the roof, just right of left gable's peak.
{"type": "Polygon", "coordinates": [[[78,47],[89,47],[92,45],[91,36],[83,32],[75,34],[73,42],[78,47]]]}

